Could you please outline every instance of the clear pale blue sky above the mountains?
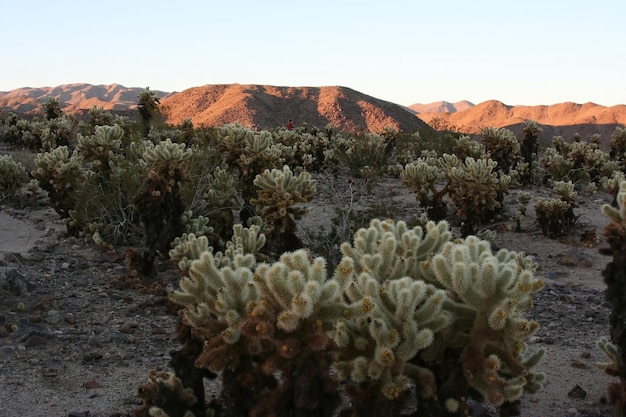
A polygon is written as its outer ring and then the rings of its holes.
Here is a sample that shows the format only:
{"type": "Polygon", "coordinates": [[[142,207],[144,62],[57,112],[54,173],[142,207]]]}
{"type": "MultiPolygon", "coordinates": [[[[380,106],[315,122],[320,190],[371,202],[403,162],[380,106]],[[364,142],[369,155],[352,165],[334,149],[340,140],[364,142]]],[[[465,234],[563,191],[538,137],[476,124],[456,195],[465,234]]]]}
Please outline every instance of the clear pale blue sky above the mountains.
{"type": "Polygon", "coordinates": [[[0,91],[240,83],[403,105],[626,103],[624,0],[2,3],[0,91]]]}

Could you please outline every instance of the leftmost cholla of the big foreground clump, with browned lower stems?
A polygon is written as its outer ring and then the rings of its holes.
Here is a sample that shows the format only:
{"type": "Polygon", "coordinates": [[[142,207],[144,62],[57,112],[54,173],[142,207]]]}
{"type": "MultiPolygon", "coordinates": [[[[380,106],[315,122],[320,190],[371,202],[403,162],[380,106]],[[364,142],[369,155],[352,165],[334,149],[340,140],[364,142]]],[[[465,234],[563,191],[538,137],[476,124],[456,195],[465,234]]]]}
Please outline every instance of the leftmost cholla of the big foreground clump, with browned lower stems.
{"type": "Polygon", "coordinates": [[[205,340],[197,366],[222,372],[224,378],[238,372],[239,387],[224,387],[228,405],[241,408],[236,403],[242,398],[233,395],[248,386],[252,390],[244,402],[256,400],[256,413],[295,407],[332,414],[339,397],[336,388],[328,391],[333,382],[326,333],[341,316],[343,302],[339,285],[326,275],[324,259],[310,260],[301,250],[256,268],[251,255],[237,254],[231,262],[218,269],[216,258],[204,252],[172,294],[185,306],[185,320],[205,340]],[[267,384],[278,369],[282,384],[267,384]],[[261,375],[267,376],[261,380],[261,375]],[[261,388],[269,391],[263,398],[261,388]]]}

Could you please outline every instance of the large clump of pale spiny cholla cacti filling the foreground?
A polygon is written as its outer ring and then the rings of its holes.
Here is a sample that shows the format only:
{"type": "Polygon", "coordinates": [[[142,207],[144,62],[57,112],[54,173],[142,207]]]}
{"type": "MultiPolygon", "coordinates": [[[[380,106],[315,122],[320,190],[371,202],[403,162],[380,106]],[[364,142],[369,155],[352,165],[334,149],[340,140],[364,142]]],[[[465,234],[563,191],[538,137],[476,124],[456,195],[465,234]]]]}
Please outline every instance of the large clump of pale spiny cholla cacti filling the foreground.
{"type": "Polygon", "coordinates": [[[242,245],[214,253],[191,239],[171,252],[195,258],[179,261],[171,299],[231,412],[331,415],[340,381],[354,416],[398,415],[412,391],[441,415],[471,398],[514,402],[541,386],[542,353],[525,352],[538,325],[524,311],[543,283],[522,254],[451,239],[446,222],[375,219],[342,245],[334,272],[306,250],[259,263],[242,245]]]}

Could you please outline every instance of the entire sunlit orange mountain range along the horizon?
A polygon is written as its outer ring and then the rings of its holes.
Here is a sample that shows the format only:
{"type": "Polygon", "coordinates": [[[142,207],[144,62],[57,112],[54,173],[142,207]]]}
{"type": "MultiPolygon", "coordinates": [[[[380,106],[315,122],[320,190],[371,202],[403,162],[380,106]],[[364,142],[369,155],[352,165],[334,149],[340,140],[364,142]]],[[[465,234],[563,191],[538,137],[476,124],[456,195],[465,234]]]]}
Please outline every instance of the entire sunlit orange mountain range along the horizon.
{"type": "MultiPolygon", "coordinates": [[[[24,87],[0,92],[0,109],[40,114],[48,98],[57,98],[67,113],[96,107],[107,111],[136,108],[145,88],[120,84],[64,84],[56,87],[24,87]]],[[[254,128],[275,128],[293,119],[296,125],[318,128],[326,124],[348,131],[379,132],[386,126],[414,132],[430,125],[470,135],[487,126],[510,128],[516,134],[526,120],[537,121],[544,136],[571,138],[575,133],[600,133],[608,138],[615,127],[626,126],[626,105],[563,102],[550,105],[506,105],[498,100],[474,104],[438,101],[401,106],[368,96],[348,87],[286,87],[258,84],[206,84],[181,92],[154,91],[166,109],[167,121],[191,119],[194,125],[219,126],[238,122],[254,128]]]]}

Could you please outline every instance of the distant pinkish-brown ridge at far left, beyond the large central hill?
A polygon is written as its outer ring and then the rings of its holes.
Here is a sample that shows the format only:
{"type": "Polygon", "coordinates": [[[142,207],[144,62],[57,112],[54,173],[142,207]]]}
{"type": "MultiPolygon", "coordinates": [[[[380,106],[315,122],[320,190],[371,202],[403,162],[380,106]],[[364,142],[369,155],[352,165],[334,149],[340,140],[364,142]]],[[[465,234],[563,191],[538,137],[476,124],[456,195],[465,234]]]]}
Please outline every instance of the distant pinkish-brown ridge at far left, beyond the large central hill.
{"type": "MultiPolygon", "coordinates": [[[[119,84],[91,85],[64,84],[57,87],[24,87],[8,92],[0,91],[0,109],[19,114],[37,114],[49,98],[57,98],[66,113],[89,110],[94,106],[104,110],[128,110],[137,106],[137,96],[144,89],[127,88],[119,84]]],[[[168,93],[155,91],[157,97],[168,93]]]]}

